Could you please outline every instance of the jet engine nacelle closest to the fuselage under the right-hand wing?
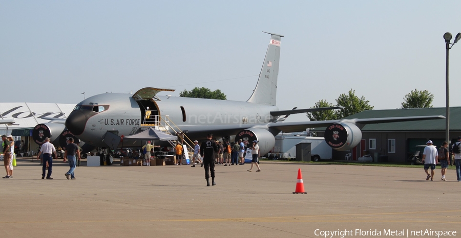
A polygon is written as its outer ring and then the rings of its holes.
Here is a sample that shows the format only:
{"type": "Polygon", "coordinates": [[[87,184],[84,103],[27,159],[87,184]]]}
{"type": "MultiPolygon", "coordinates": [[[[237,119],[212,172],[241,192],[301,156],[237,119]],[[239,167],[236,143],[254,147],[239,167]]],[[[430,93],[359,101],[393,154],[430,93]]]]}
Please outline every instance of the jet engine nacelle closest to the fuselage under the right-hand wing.
{"type": "Polygon", "coordinates": [[[264,155],[274,148],[275,138],[272,133],[265,129],[261,128],[249,128],[243,131],[240,131],[235,136],[235,140],[242,139],[245,147],[251,149],[253,146],[253,140],[258,140],[258,146],[260,155],[264,155]]]}

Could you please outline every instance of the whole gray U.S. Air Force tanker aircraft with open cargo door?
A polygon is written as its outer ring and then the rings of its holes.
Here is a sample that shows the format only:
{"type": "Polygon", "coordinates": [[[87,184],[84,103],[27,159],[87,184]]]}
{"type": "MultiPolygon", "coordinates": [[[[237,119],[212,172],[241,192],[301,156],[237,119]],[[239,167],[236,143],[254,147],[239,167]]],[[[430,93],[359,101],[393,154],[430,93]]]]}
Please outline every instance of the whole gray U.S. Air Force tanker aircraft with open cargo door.
{"type": "MultiPolygon", "coordinates": [[[[265,32],[267,33],[267,32],[265,32]]],[[[256,88],[246,102],[158,96],[173,89],[142,88],[134,94],[103,93],[78,103],[65,125],[75,136],[96,147],[140,146],[141,141],[124,141],[123,136],[155,127],[172,134],[184,132],[193,140],[231,136],[245,142],[258,140],[261,154],[273,149],[274,136],[280,131],[296,132],[306,128],[326,127],[325,140],[335,150],[357,146],[366,124],[443,119],[444,116],[412,116],[332,121],[282,122],[289,114],[335,109],[310,108],[279,110],[276,106],[277,76],[281,38],[271,35],[256,88]],[[114,139],[115,136],[115,139],[114,139]]],[[[145,141],[144,141],[145,142],[145,141]]]]}

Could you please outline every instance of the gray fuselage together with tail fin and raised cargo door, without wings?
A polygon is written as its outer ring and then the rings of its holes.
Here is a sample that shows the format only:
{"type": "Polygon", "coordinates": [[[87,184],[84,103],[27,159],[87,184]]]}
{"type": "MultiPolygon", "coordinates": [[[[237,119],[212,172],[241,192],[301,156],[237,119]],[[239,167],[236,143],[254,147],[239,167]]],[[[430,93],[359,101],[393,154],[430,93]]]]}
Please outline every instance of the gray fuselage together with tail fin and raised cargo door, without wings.
{"type": "MultiPolygon", "coordinates": [[[[269,130],[265,125],[277,122],[280,116],[271,115],[270,112],[278,111],[277,77],[283,36],[268,34],[271,37],[258,82],[246,102],[157,96],[160,91],[174,90],[149,87],[134,94],[103,93],[78,103],[68,116],[66,127],[79,139],[97,147],[106,147],[109,145],[107,141],[103,141],[108,138],[106,133],[120,137],[138,133],[145,129],[145,124],[151,125],[148,118],[151,118],[149,115],[154,115],[162,119],[157,120],[161,125],[167,124],[163,120],[169,120],[170,126],[167,130],[170,133],[183,131],[185,137],[191,140],[205,139],[207,133],[213,133],[215,138],[219,138],[235,136],[247,128],[264,130],[260,131],[259,134],[263,135],[258,138],[269,138],[270,141],[264,143],[264,148],[270,150],[273,147],[273,135],[280,132],[279,129],[269,130]]],[[[157,122],[154,125],[158,124],[157,122]]],[[[249,139],[248,136],[245,138],[249,139]]],[[[113,142],[117,141],[111,141],[110,145],[113,147],[113,142]]],[[[119,147],[140,144],[141,141],[122,140],[119,147]]]]}

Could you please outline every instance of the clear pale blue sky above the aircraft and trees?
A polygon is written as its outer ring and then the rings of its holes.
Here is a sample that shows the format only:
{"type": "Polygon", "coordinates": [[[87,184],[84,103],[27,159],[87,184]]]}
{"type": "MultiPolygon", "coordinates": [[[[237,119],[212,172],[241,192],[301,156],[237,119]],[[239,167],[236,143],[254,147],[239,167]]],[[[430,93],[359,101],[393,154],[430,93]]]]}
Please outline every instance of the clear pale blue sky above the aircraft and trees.
{"type": "MultiPolygon", "coordinates": [[[[374,109],[400,108],[414,89],[445,107],[443,35],[461,32],[459,9],[461,1],[3,0],[0,102],[76,104],[143,87],[173,96],[207,87],[246,101],[266,31],[285,36],[280,110],[336,104],[350,89],[374,109]]],[[[450,50],[451,106],[461,105],[460,64],[461,42],[450,50]]]]}

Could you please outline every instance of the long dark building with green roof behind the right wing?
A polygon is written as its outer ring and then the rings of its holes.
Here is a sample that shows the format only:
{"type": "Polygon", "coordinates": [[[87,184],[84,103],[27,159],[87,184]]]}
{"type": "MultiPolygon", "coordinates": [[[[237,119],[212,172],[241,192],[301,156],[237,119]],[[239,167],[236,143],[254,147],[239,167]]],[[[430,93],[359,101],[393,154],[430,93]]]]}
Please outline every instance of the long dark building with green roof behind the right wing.
{"type": "MultiPolygon", "coordinates": [[[[399,116],[443,115],[445,107],[367,110],[346,118],[378,118],[399,116]]],[[[378,158],[389,162],[406,162],[415,152],[416,145],[426,145],[428,140],[440,148],[445,141],[446,120],[426,120],[413,122],[393,122],[365,125],[362,129],[362,141],[349,152],[333,152],[333,159],[344,159],[347,153],[352,159],[370,154],[374,161],[378,158]],[[376,158],[378,156],[378,158],[376,158]]],[[[325,128],[316,128],[318,136],[324,136],[325,128]]],[[[461,136],[461,107],[450,107],[450,140],[461,136]]]]}

